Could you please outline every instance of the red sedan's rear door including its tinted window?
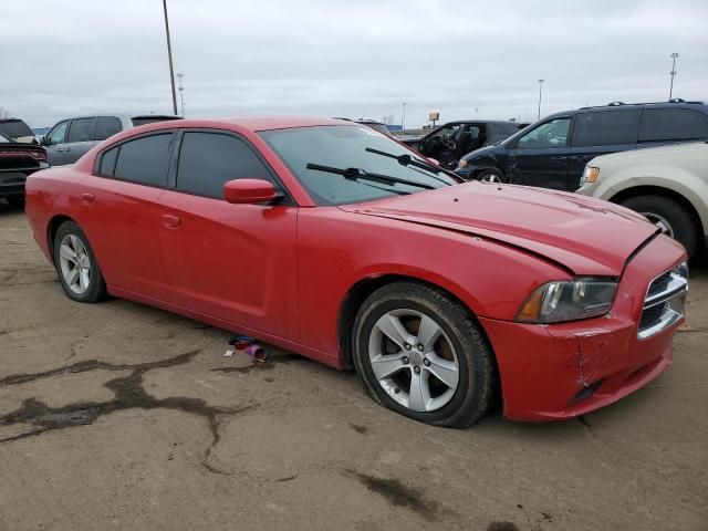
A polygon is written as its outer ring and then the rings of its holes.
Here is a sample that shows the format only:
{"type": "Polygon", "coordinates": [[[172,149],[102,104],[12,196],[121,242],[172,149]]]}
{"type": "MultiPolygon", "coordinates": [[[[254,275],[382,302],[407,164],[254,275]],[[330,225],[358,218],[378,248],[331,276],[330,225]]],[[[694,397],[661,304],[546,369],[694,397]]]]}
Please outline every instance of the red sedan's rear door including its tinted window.
{"type": "Polygon", "coordinates": [[[82,180],[82,226],[112,288],[169,302],[158,200],[167,186],[173,132],[139,136],[103,152],[82,180]]]}

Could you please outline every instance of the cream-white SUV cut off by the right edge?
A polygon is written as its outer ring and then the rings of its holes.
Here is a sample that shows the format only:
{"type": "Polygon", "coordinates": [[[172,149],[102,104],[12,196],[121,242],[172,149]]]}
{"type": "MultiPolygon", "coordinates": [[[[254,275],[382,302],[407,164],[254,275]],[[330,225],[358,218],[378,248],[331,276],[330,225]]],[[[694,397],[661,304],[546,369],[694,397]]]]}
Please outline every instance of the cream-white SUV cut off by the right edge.
{"type": "Polygon", "coordinates": [[[577,194],[643,214],[699,252],[708,235],[708,143],[679,144],[593,158],[577,194]]]}

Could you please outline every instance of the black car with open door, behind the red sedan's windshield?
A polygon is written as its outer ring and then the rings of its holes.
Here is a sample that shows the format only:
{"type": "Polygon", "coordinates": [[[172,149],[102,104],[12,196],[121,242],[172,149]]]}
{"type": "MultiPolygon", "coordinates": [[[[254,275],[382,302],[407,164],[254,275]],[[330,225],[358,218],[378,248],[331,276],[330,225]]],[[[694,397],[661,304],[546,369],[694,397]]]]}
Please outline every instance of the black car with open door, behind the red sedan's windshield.
{"type": "Polygon", "coordinates": [[[489,146],[519,132],[514,122],[449,122],[423,137],[399,137],[420,155],[435,158],[444,168],[455,168],[460,157],[483,146],[489,146]]]}

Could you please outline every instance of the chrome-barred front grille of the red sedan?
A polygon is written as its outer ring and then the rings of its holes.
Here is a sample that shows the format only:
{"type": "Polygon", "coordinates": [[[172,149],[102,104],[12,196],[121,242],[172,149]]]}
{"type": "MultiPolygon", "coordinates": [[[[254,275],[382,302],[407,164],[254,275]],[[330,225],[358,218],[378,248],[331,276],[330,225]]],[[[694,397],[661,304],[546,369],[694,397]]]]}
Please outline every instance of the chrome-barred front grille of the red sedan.
{"type": "Polygon", "coordinates": [[[684,316],[687,291],[686,262],[654,279],[646,292],[637,336],[646,340],[676,324],[684,316]]]}

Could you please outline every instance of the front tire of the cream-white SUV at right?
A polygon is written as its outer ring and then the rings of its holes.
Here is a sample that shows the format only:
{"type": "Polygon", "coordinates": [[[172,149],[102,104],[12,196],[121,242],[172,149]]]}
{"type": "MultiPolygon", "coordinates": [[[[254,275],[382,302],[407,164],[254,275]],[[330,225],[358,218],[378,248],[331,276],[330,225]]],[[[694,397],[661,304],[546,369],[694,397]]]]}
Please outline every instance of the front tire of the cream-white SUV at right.
{"type": "Polygon", "coordinates": [[[688,257],[696,253],[698,230],[690,215],[678,202],[662,196],[637,196],[622,201],[627,207],[655,222],[686,248],[688,257]]]}

